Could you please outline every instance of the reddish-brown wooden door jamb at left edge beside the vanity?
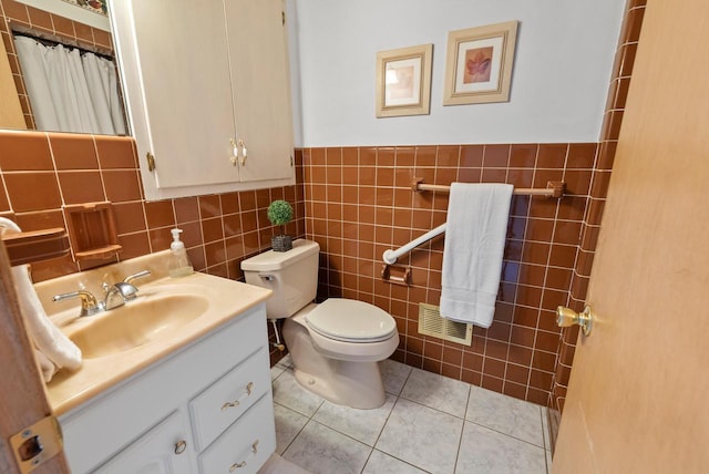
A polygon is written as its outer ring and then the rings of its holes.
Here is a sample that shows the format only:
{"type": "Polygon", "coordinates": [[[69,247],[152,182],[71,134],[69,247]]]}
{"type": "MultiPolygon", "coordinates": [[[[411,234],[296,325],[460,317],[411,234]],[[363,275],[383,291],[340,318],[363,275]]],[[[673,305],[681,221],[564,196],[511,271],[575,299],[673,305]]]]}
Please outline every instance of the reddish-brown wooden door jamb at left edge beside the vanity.
{"type": "MultiPolygon", "coordinates": [[[[19,473],[10,436],[50,414],[39,368],[33,363],[30,340],[24,330],[14,293],[10,264],[0,241],[0,473],[19,473]]],[[[68,473],[63,453],[33,471],[68,473]]]]}

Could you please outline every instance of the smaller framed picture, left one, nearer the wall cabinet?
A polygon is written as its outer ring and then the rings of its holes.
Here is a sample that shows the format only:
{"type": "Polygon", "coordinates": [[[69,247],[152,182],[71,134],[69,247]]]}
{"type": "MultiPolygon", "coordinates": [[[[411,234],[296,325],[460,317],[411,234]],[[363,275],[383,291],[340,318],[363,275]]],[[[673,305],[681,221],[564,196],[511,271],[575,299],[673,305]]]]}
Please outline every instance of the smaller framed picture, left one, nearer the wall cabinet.
{"type": "Polygon", "coordinates": [[[433,44],[377,53],[377,116],[425,115],[431,103],[433,44]]]}

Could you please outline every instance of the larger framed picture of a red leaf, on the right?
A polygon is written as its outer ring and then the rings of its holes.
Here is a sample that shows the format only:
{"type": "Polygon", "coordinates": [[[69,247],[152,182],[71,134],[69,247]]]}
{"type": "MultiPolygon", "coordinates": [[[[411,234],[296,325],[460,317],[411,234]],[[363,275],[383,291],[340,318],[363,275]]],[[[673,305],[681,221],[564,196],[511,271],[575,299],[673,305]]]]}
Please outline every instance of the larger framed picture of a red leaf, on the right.
{"type": "Polygon", "coordinates": [[[517,21],[448,34],[443,105],[507,102],[517,21]]]}

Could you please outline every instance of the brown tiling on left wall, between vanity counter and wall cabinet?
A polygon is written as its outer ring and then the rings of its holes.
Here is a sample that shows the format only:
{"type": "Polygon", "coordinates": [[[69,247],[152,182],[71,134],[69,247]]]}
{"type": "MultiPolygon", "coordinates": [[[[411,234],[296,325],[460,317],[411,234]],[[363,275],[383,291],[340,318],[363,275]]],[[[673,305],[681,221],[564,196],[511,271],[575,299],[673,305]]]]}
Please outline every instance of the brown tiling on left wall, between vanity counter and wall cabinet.
{"type": "MultiPolygon", "coordinates": [[[[266,216],[273,199],[294,205],[286,230],[305,235],[301,156],[296,153],[294,186],[146,202],[133,138],[0,130],[0,216],[23,230],[66,228],[62,206],[110,200],[120,259],[169,248],[169,229],[178,226],[195,270],[242,279],[240,261],[269,248],[270,236],[280,233],[266,216]]],[[[80,268],[68,256],[33,264],[32,277],[37,282],[113,261],[82,261],[80,268]]]]}

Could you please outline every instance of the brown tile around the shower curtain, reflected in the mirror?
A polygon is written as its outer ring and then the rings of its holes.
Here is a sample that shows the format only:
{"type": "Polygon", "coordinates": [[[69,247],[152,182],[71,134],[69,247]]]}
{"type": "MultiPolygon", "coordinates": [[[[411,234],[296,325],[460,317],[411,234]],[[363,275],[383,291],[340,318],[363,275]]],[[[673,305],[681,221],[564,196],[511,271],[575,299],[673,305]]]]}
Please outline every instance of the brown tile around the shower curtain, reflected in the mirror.
{"type": "Polygon", "coordinates": [[[20,96],[24,121],[30,130],[34,128],[34,120],[24,81],[20,73],[20,63],[12,41],[12,29],[29,30],[32,34],[61,41],[63,44],[72,44],[102,54],[113,55],[111,33],[88,24],[52,14],[14,0],[0,0],[0,35],[8,51],[10,69],[20,96]]]}

